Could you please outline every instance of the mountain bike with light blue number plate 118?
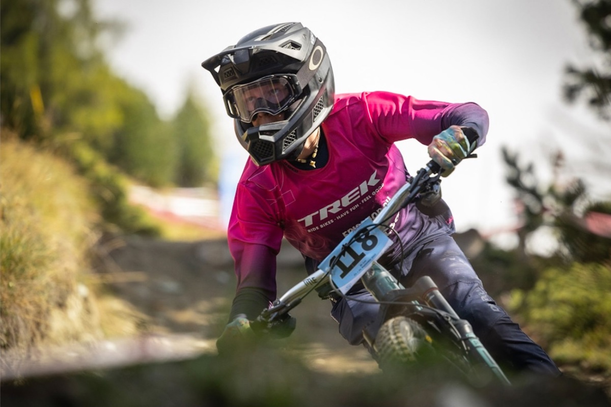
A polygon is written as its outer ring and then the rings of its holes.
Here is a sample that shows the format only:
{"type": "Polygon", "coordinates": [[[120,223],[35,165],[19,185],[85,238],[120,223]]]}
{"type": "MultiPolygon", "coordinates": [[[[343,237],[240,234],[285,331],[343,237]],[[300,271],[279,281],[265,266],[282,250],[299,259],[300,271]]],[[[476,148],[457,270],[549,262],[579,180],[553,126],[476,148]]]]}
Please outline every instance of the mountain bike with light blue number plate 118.
{"type": "Polygon", "coordinates": [[[321,287],[330,287],[336,296],[346,297],[360,281],[380,304],[381,328],[376,337],[365,331],[364,337],[382,371],[411,364],[432,351],[469,380],[485,383],[492,379],[510,384],[470,323],[456,314],[430,277],[423,276],[412,287],[403,287],[377,262],[392,244],[386,232],[401,208],[417,201],[431,206],[441,199],[442,172],[433,160],[428,162],[375,218],[365,219],[348,234],[318,265],[318,270],[263,310],[251,322],[252,330],[288,336],[295,329],[295,319],[289,311],[313,290],[320,295],[321,287]]]}

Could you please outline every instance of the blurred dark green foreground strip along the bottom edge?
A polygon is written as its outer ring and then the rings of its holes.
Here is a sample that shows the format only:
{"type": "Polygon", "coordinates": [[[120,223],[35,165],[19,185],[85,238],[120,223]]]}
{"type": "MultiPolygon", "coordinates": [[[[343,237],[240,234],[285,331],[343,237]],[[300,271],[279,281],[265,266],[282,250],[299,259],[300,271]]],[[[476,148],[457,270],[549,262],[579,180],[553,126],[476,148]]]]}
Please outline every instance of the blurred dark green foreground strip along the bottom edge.
{"type": "Polygon", "coordinates": [[[331,375],[273,348],[2,383],[7,406],[609,406],[574,378],[474,387],[445,371],[331,375]]]}

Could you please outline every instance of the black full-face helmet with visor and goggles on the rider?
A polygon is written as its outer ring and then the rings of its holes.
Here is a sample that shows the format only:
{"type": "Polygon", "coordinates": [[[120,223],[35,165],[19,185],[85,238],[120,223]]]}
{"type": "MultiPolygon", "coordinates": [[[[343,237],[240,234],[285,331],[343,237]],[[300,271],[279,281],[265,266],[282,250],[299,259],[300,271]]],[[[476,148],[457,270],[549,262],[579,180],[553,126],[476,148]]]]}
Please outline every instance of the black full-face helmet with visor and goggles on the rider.
{"type": "Polygon", "coordinates": [[[333,107],[331,61],[323,43],[301,23],[253,31],[202,67],[221,87],[238,140],[258,165],[295,159],[333,107]],[[258,112],[285,112],[284,120],[253,127],[258,112]]]}

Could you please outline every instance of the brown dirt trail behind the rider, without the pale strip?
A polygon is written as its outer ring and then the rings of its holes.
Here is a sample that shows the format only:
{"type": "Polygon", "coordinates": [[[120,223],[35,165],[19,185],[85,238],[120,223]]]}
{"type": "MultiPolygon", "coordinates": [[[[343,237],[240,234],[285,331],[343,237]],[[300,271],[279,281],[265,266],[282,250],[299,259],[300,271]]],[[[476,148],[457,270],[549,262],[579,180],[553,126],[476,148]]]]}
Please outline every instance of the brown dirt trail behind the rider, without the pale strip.
{"type": "MultiPolygon", "coordinates": [[[[115,295],[147,315],[147,331],[172,334],[183,342],[191,337],[196,351],[216,351],[214,340],[226,322],[235,290],[225,239],[165,242],[127,237],[115,239],[112,246],[110,286],[115,295]]],[[[301,255],[288,244],[280,252],[278,270],[279,294],[305,276],[301,255]]],[[[377,370],[364,348],[351,346],[340,336],[330,311],[329,301],[315,294],[306,298],[291,312],[297,328],[288,339],[290,347],[315,370],[377,370]]]]}

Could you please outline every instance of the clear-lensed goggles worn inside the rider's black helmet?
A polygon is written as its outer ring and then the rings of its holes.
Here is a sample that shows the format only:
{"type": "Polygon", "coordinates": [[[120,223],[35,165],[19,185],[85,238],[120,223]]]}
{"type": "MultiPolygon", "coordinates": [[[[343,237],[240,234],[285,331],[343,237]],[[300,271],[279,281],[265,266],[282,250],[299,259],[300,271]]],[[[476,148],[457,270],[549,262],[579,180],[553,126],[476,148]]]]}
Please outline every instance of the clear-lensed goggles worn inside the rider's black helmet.
{"type": "Polygon", "coordinates": [[[299,95],[301,87],[295,75],[273,75],[234,86],[223,99],[230,117],[250,123],[259,112],[277,115],[299,95]]]}

